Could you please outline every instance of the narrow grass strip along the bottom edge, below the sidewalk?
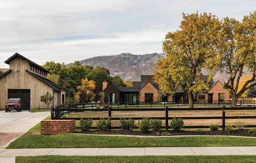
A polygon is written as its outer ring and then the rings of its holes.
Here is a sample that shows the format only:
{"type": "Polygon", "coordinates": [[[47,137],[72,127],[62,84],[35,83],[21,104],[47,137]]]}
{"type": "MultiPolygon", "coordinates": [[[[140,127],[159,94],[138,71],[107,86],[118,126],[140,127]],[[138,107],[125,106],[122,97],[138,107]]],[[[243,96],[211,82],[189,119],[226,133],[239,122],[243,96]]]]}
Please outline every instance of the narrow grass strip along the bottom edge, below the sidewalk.
{"type": "Polygon", "coordinates": [[[63,156],[47,155],[35,157],[17,157],[16,163],[81,163],[81,162],[99,162],[99,163],[250,163],[255,162],[255,155],[225,155],[225,156],[63,156]]]}

